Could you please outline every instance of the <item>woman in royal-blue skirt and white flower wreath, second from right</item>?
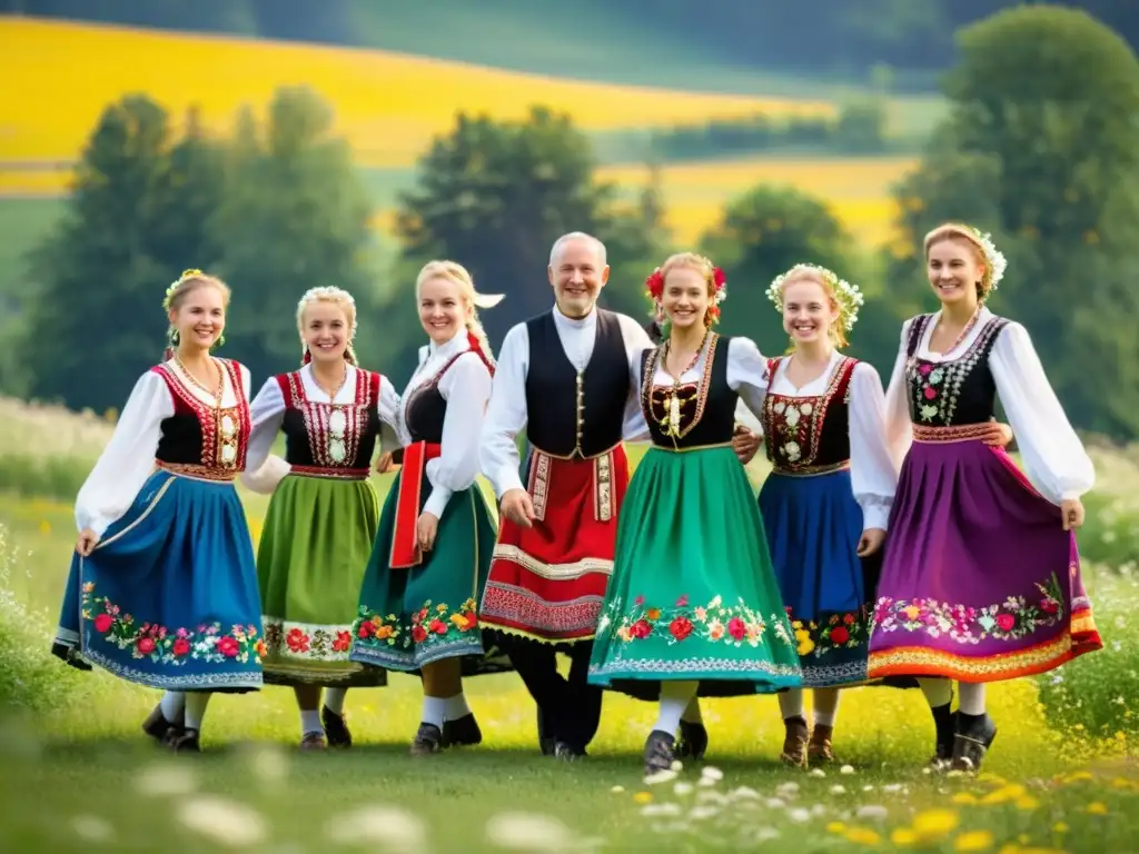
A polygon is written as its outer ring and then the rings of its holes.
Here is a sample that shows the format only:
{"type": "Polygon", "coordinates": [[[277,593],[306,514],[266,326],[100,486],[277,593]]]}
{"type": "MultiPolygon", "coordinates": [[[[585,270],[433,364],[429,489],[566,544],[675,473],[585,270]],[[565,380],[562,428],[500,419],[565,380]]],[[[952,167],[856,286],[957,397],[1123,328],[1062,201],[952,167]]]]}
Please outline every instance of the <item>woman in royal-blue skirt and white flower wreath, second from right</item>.
{"type": "MultiPolygon", "coordinates": [[[[862,294],[830,270],[798,264],[768,289],[790,336],[771,359],[763,403],[771,474],[760,512],[795,630],[803,689],[779,695],[782,761],[829,762],[838,689],[866,682],[867,641],[898,473],[886,443],[885,396],[872,366],[844,355],[862,294]]],[[[991,425],[991,444],[1007,442],[991,425]]]]}

